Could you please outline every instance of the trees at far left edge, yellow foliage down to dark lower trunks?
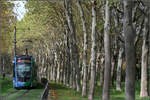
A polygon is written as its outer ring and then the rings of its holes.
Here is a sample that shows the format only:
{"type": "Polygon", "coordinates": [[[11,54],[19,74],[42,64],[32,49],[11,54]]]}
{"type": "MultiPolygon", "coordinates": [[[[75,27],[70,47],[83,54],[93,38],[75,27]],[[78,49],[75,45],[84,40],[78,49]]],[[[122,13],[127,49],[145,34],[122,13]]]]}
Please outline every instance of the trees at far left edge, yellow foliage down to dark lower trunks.
{"type": "Polygon", "coordinates": [[[11,73],[11,46],[13,24],[16,22],[13,12],[14,4],[7,1],[0,1],[0,75],[2,72],[11,73]]]}

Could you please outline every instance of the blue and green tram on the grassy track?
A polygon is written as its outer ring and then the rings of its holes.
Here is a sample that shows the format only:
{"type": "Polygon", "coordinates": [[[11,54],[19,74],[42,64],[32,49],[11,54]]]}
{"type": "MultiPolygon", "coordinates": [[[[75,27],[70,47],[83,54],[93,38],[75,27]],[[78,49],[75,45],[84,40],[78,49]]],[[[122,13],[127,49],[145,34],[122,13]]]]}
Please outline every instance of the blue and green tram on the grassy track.
{"type": "Polygon", "coordinates": [[[36,78],[35,60],[32,56],[15,56],[13,61],[13,87],[32,88],[36,78]]]}

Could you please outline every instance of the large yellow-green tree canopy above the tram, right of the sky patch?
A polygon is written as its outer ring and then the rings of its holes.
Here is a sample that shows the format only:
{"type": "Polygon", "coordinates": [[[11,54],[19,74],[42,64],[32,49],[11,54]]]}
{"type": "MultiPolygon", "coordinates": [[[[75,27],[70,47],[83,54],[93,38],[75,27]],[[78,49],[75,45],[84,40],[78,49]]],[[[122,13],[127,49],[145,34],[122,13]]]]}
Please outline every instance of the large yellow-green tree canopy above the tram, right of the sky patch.
{"type": "Polygon", "coordinates": [[[31,55],[34,55],[35,50],[44,50],[46,53],[48,47],[53,48],[56,42],[59,43],[63,39],[63,7],[59,3],[49,1],[28,1],[25,6],[27,13],[16,25],[17,53],[23,54],[25,46],[29,48],[31,55]]]}

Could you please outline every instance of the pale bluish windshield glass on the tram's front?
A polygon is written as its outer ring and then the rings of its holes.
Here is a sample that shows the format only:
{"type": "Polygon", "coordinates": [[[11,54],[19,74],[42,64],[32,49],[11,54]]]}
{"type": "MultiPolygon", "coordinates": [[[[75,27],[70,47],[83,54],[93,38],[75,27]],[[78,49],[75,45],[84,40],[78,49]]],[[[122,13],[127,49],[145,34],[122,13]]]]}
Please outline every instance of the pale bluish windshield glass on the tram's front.
{"type": "Polygon", "coordinates": [[[16,71],[18,77],[31,77],[31,64],[18,63],[16,71]]]}

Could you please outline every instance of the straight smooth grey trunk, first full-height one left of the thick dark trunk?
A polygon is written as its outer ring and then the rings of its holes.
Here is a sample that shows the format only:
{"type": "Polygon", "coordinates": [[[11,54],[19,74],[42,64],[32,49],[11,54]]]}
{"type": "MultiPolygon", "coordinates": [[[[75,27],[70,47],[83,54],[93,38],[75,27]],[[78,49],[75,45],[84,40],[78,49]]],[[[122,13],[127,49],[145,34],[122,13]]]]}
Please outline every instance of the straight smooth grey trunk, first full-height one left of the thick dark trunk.
{"type": "Polygon", "coordinates": [[[109,0],[105,6],[105,25],[104,25],[104,50],[105,50],[105,70],[102,100],[109,100],[109,88],[111,77],[111,57],[110,57],[110,7],[109,0]]]}

